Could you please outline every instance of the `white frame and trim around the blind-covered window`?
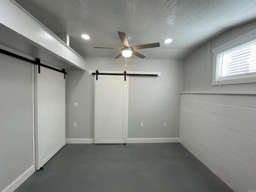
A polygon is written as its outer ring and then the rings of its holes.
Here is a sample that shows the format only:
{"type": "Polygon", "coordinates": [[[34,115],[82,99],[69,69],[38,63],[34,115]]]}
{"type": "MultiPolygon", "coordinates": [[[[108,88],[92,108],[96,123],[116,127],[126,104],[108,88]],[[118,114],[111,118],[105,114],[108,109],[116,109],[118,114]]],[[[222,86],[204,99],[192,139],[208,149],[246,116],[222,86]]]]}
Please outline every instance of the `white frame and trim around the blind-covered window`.
{"type": "MultiPolygon", "coordinates": [[[[235,48],[237,46],[240,46],[242,44],[245,44],[247,42],[250,42],[252,40],[256,40],[256,30],[252,30],[238,38],[235,38],[234,40],[231,40],[225,44],[222,44],[221,46],[218,46],[212,49],[212,53],[213,53],[212,85],[220,85],[220,80],[216,80],[217,55],[227,50],[230,50],[232,48],[235,48]]],[[[234,79],[222,79],[221,84],[228,85],[228,84],[242,84],[242,83],[255,83],[255,82],[256,82],[256,75],[248,76],[248,77],[241,76],[234,79]]]]}

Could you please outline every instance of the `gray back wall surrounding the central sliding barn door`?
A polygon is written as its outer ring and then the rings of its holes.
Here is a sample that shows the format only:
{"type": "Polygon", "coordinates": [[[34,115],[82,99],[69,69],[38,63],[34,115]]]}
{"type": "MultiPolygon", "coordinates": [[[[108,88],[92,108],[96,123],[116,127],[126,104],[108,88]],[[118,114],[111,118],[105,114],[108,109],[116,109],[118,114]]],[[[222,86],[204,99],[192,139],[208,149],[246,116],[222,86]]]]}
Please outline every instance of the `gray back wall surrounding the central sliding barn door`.
{"type": "MultiPolygon", "coordinates": [[[[179,138],[183,61],[130,59],[125,67],[124,58],[88,57],[86,70],[161,72],[161,77],[130,76],[128,138],[179,138]]],[[[66,138],[93,139],[94,76],[75,68],[67,72],[66,138]],[[74,107],[74,102],[79,106],[74,107]]]]}

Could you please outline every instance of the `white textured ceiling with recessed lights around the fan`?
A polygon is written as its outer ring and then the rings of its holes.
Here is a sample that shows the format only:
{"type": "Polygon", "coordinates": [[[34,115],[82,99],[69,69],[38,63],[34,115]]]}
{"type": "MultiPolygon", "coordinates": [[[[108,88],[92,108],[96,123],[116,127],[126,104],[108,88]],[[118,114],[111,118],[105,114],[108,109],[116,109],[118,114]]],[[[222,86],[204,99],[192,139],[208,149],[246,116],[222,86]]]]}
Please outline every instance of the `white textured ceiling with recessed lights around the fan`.
{"type": "MultiPolygon", "coordinates": [[[[55,34],[67,32],[81,56],[113,57],[130,44],[160,42],[139,50],[146,58],[184,59],[195,48],[234,26],[256,19],[256,0],[16,0],[55,34]],[[81,38],[88,34],[90,40],[81,38]],[[170,44],[163,40],[172,38],[170,44]]],[[[136,58],[136,56],[133,56],[136,58]]]]}

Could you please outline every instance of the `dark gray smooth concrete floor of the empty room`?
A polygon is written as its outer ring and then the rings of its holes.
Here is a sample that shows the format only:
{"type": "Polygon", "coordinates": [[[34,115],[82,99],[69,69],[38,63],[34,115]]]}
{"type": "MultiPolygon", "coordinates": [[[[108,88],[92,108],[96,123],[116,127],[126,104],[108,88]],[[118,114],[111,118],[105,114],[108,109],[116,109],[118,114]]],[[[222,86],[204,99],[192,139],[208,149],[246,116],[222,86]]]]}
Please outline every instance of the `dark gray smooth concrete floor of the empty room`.
{"type": "Polygon", "coordinates": [[[180,143],[66,144],[15,192],[233,192],[180,143]]]}

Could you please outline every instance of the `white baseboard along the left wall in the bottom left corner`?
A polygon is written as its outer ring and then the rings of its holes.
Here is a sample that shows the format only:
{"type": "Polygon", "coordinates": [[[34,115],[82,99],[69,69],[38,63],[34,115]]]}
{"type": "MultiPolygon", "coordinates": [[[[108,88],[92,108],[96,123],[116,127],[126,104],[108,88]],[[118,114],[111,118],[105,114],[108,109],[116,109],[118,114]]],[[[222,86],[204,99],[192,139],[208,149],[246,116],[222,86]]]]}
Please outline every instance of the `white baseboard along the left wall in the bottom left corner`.
{"type": "Polygon", "coordinates": [[[26,172],[24,172],[20,177],[18,177],[12,184],[5,188],[2,192],[14,192],[27,178],[29,178],[36,171],[36,167],[32,166],[26,172]]]}

